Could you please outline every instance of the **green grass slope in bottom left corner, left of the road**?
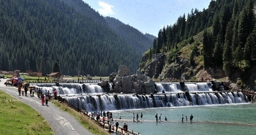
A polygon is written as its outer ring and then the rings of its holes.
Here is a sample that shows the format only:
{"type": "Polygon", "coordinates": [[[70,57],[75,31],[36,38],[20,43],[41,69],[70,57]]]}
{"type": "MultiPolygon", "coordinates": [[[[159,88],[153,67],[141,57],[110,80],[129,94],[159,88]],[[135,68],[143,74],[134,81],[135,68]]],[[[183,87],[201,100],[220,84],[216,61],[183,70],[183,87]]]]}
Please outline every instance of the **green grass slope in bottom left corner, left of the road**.
{"type": "Polygon", "coordinates": [[[0,90],[0,134],[54,134],[54,132],[35,109],[0,90]]]}

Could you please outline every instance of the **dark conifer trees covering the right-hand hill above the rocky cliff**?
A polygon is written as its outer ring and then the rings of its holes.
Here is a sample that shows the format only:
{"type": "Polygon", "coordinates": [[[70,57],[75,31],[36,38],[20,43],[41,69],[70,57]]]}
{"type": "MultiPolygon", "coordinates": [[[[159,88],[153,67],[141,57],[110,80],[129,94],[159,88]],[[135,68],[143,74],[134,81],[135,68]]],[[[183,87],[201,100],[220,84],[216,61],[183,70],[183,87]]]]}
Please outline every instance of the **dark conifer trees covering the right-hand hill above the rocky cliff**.
{"type": "Polygon", "coordinates": [[[243,72],[255,65],[256,58],[256,25],[255,0],[211,1],[209,8],[199,12],[191,10],[182,15],[172,26],[159,30],[153,48],[148,56],[161,52],[170,52],[168,63],[179,51],[177,44],[187,40],[195,42],[193,36],[204,31],[202,50],[198,44],[193,47],[190,64],[195,64],[195,56],[203,56],[205,68],[221,68],[226,75],[234,70],[243,72]],[[254,61],[254,63],[253,63],[254,61]]]}

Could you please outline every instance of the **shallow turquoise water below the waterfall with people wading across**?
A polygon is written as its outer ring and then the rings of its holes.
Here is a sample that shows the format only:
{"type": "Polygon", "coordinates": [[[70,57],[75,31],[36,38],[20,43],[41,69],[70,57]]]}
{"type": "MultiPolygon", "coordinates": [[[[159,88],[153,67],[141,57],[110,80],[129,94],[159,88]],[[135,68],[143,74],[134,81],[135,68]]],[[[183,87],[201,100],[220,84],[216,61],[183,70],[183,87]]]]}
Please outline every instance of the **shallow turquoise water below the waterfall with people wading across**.
{"type": "Polygon", "coordinates": [[[140,134],[256,134],[256,104],[163,107],[112,112],[113,118],[122,117],[118,120],[120,125],[126,123],[128,129],[140,134]],[[132,113],[138,113],[139,122],[132,122],[132,113]],[[162,122],[156,122],[156,113],[158,116],[162,114],[162,122]],[[194,116],[193,122],[189,122],[191,114],[194,116]],[[167,122],[164,122],[165,116],[167,122]]]}

